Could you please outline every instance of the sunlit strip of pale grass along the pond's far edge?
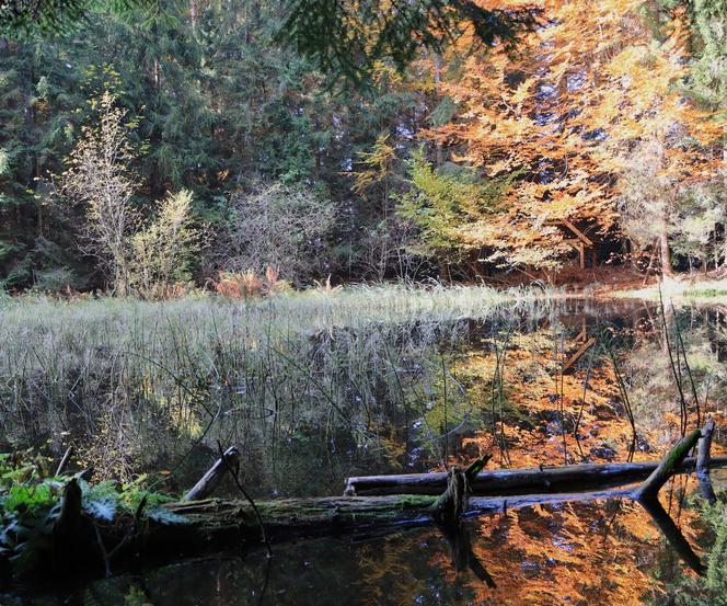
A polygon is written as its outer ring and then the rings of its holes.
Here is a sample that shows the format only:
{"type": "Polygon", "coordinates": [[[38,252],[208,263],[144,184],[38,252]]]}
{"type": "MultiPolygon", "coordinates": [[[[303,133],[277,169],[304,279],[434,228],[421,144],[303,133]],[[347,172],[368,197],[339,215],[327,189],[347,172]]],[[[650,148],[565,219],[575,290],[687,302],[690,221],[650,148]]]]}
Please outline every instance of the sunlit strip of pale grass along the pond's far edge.
{"type": "Polygon", "coordinates": [[[300,325],[355,325],[369,321],[395,322],[405,319],[453,320],[482,318],[504,305],[517,307],[549,298],[541,289],[489,286],[406,286],[354,285],[333,289],[308,289],[280,293],[265,298],[227,299],[197,291],[177,299],[150,301],[138,298],[78,297],[55,298],[46,295],[0,297],[0,315],[5,328],[24,323],[34,325],[51,317],[65,321],[97,320],[100,316],[120,318],[147,316],[154,310],[166,315],[197,316],[222,311],[246,317],[282,319],[300,325]]]}

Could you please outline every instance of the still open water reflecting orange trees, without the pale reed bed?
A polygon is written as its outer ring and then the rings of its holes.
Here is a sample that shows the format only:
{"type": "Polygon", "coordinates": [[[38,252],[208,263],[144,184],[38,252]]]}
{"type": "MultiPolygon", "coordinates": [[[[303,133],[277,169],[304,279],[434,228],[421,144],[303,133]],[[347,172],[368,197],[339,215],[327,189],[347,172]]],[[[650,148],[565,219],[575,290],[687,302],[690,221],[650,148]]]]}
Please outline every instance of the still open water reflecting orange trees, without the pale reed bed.
{"type": "MultiPolygon", "coordinates": [[[[204,471],[217,439],[238,444],[244,483],[258,499],[341,494],[348,476],[443,469],[486,451],[494,455],[489,468],[653,460],[683,423],[696,425],[697,414],[709,412],[719,423],[727,402],[726,318],[717,308],[662,318],[643,302],[564,300],[485,318],[332,323],[273,344],[269,333],[267,341],[253,335],[236,352],[247,362],[216,364],[218,375],[208,382],[195,378],[197,391],[141,389],[146,412],[130,407],[122,422],[107,420],[100,442],[99,432],[84,433],[79,421],[88,425],[88,411],[68,412],[66,431],[102,470],[157,477],[161,469],[168,490],[189,485],[204,471]],[[198,391],[215,410],[211,424],[195,413],[198,391]],[[149,412],[154,398],[176,412],[149,412]]],[[[86,398],[83,405],[93,403],[86,398]]],[[[57,423],[58,413],[54,419],[47,423],[57,423]]],[[[15,437],[43,437],[27,435],[33,431],[22,424],[15,437]]],[[[718,489],[727,485],[724,473],[714,478],[718,489]]],[[[693,492],[693,481],[681,476],[662,489],[662,502],[704,553],[709,539],[693,492]]],[[[65,588],[48,599],[658,604],[665,584],[689,574],[648,515],[615,499],[507,511],[469,521],[466,531],[474,565],[454,557],[436,528],[409,529],[276,545],[272,560],[252,550],[183,561],[65,588]]],[[[30,601],[28,592],[5,599],[30,601]]]]}

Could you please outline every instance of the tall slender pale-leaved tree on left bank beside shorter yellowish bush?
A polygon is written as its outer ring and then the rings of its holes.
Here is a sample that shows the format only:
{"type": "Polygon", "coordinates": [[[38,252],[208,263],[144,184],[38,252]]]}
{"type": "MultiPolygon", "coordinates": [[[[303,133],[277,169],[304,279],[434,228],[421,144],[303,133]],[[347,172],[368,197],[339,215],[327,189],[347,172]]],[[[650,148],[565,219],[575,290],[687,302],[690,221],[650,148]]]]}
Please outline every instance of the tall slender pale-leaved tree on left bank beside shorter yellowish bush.
{"type": "Polygon", "coordinates": [[[114,291],[123,295],[129,286],[127,238],[138,220],[131,206],[138,179],[129,137],[136,123],[126,119],[127,112],[108,90],[89,103],[96,119],[82,127],[67,159],[62,191],[84,207],[83,251],[99,259],[114,291]]]}

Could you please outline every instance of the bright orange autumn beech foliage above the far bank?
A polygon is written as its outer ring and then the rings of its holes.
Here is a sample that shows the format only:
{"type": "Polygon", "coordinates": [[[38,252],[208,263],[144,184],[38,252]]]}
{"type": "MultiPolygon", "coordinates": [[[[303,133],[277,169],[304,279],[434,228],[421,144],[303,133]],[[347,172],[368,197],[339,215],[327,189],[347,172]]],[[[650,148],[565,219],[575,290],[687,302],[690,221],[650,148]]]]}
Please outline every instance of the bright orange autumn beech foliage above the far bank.
{"type": "Polygon", "coordinates": [[[688,37],[679,10],[656,39],[641,0],[480,3],[539,9],[541,26],[517,55],[471,54],[441,84],[459,112],[426,136],[487,175],[527,175],[496,219],[462,227],[465,242],[509,249],[521,263],[528,249],[567,249],[546,220],[610,228],[620,174],[644,142],[665,149],[661,173],[676,186],[718,174],[725,125],[680,91],[688,37]]]}

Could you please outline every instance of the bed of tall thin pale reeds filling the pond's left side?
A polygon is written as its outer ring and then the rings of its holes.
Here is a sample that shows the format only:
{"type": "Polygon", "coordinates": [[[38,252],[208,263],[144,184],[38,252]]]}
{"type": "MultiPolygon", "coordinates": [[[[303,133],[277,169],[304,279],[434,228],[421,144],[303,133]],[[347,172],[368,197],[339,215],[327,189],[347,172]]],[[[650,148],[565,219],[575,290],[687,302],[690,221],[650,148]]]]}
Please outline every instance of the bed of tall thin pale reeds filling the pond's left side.
{"type": "MultiPolygon", "coordinates": [[[[344,474],[372,457],[395,469],[401,432],[424,444],[439,435],[420,420],[448,386],[440,350],[455,350],[472,322],[547,307],[528,290],[403,285],[246,301],[5,298],[0,441],[72,443],[101,476],[155,468],[171,482],[197,473],[196,455],[217,441],[234,443],[250,485],[286,477],[295,492],[289,479],[300,478],[322,493],[326,478],[301,472],[300,457],[344,474]]],[[[454,382],[449,391],[455,410],[464,396],[454,382]]]]}

